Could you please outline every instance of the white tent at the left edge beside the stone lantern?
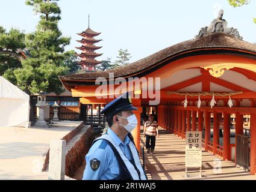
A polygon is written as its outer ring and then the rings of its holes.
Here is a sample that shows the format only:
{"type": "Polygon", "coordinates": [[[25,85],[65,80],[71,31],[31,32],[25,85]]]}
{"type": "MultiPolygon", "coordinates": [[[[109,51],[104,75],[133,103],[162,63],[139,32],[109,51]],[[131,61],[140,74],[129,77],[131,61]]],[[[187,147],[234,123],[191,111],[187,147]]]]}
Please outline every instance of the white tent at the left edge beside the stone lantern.
{"type": "Polygon", "coordinates": [[[30,95],[0,76],[0,127],[28,127],[30,95]]]}

